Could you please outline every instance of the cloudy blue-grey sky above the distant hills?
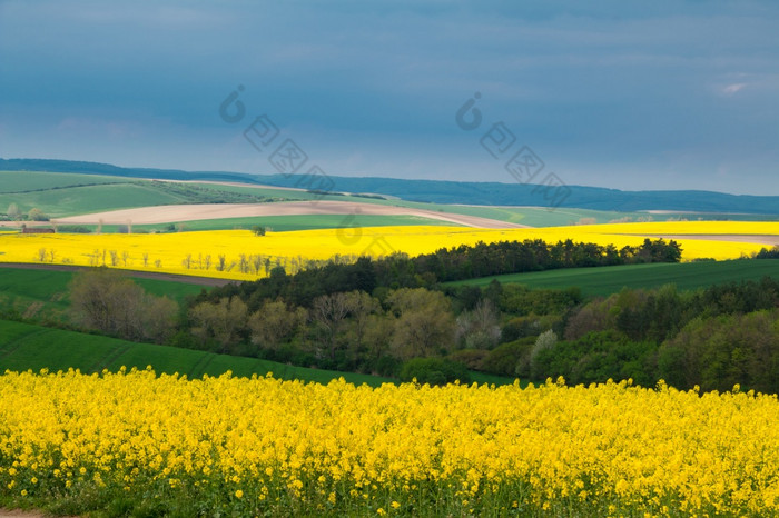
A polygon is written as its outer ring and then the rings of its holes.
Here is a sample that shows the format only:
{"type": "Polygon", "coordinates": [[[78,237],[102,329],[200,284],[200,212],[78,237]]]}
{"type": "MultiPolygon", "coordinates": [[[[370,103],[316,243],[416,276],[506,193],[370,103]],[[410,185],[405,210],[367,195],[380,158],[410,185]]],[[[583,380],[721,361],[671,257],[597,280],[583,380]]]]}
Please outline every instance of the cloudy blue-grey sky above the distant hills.
{"type": "Polygon", "coordinates": [[[531,150],[568,185],[779,195],[777,27],[776,0],[0,0],[0,157],[532,182],[531,150]]]}

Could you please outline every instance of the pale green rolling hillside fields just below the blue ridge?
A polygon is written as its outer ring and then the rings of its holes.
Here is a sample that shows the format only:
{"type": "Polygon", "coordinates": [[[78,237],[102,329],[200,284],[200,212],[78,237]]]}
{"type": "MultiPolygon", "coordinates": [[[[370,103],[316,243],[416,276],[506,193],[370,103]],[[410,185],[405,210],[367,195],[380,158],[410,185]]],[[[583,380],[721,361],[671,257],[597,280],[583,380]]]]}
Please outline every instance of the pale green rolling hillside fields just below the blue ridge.
{"type": "MultiPolygon", "coordinates": [[[[303,190],[270,189],[266,187],[247,186],[224,186],[201,182],[159,182],[145,179],[134,179],[124,177],[73,175],[73,173],[51,173],[33,171],[0,171],[0,212],[3,212],[10,203],[27,212],[38,208],[52,218],[76,216],[90,212],[101,212],[108,210],[128,209],[136,207],[150,207],[159,205],[177,203],[207,203],[207,202],[256,202],[280,201],[280,200],[334,200],[354,201],[364,203],[376,203],[385,206],[408,207],[426,209],[444,213],[457,213],[466,216],[477,216],[481,218],[496,219],[530,227],[553,227],[574,225],[582,219],[589,222],[608,223],[614,220],[628,218],[630,221],[649,218],[645,212],[615,212],[604,210],[570,209],[559,208],[549,210],[546,208],[533,207],[490,207],[490,206],[463,206],[463,205],[438,205],[404,201],[400,199],[375,199],[351,195],[321,195],[303,190]],[[254,198],[254,199],[253,199],[254,198]]],[[[336,186],[337,187],[337,186],[336,186]]],[[[664,221],[669,218],[684,217],[688,219],[734,219],[734,220],[775,220],[776,217],[760,217],[756,215],[716,215],[716,213],[664,213],[652,215],[657,221],[664,221]]],[[[336,217],[335,225],[332,221],[321,218],[318,223],[294,223],[284,227],[278,221],[254,225],[266,225],[274,227],[277,231],[299,230],[303,228],[333,228],[337,227],[342,217],[336,217]],[[325,222],[326,221],[326,222],[325,222]],[[327,227],[329,226],[329,227],[327,227]]],[[[363,217],[368,220],[369,217],[363,217]]],[[[378,218],[378,217],[376,217],[378,218]]],[[[391,221],[391,220],[387,220],[391,221]]],[[[382,225],[411,225],[412,220],[404,223],[382,223],[382,225]]],[[[430,220],[422,220],[424,225],[430,220]]],[[[216,222],[185,223],[191,230],[223,229],[231,228],[227,225],[245,225],[243,222],[228,222],[223,226],[216,222]]],[[[368,226],[368,223],[362,223],[368,226]]],[[[376,223],[371,223],[376,225],[376,223]]],[[[440,223],[435,223],[440,225],[440,223]]],[[[158,226],[148,226],[156,228],[158,226]]],[[[140,227],[139,227],[140,228],[140,227]]]]}

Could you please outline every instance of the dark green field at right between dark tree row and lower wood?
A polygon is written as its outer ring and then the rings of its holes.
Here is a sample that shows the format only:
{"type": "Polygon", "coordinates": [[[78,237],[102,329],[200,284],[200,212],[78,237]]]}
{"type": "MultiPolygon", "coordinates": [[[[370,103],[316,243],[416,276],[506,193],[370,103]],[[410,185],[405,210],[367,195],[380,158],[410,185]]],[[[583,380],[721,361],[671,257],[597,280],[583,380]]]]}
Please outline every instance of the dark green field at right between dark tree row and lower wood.
{"type": "Polygon", "coordinates": [[[482,277],[447,285],[486,286],[492,279],[497,279],[501,282],[520,283],[536,289],[578,286],[584,296],[607,296],[624,287],[651,289],[672,283],[679,290],[693,290],[724,282],[759,280],[765,276],[779,277],[779,259],[571,268],[482,277]]]}

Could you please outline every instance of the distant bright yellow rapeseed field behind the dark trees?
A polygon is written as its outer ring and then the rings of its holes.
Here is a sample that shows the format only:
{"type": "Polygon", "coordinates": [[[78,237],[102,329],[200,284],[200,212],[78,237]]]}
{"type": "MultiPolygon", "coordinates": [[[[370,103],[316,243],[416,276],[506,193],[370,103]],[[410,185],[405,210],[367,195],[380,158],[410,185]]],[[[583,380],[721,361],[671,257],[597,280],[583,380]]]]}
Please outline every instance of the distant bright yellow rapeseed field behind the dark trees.
{"type": "Polygon", "coordinates": [[[307,261],[341,256],[386,256],[395,251],[416,256],[440,248],[479,241],[572,239],[598,245],[638,246],[645,237],[671,236],[683,249],[682,259],[733,259],[759,251],[765,245],[728,236],[779,236],[771,222],[620,223],[530,229],[471,229],[463,227],[373,227],[300,230],[257,237],[247,230],[164,235],[0,235],[0,261],[107,265],[229,279],[255,279],[280,265],[288,272],[307,261]],[[684,236],[710,235],[730,240],[684,236]],[[221,259],[220,259],[221,258],[221,259]],[[221,262],[224,261],[224,262],[221,262]]]}

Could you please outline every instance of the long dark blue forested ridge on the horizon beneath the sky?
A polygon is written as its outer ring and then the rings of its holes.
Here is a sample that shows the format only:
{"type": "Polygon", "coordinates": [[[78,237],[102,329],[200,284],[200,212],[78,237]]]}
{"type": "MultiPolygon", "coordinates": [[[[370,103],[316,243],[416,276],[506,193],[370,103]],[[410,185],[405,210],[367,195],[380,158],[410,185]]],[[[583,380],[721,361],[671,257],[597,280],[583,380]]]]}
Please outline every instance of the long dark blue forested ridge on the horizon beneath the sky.
{"type": "MultiPolygon", "coordinates": [[[[45,159],[0,159],[0,170],[50,171],[109,175],[119,177],[160,178],[169,180],[217,180],[278,187],[325,188],[306,183],[300,175],[247,175],[228,171],[181,171],[176,169],[122,168],[109,163],[45,159]]],[[[779,196],[737,196],[722,192],[622,191],[602,187],[568,186],[566,197],[554,198],[543,186],[501,182],[458,182],[402,180],[395,178],[352,178],[331,176],[326,189],[338,192],[389,195],[408,201],[463,203],[482,206],[560,206],[593,210],[632,212],[670,210],[693,212],[731,212],[752,215],[779,213],[779,196]]],[[[561,191],[556,192],[561,195],[561,191]]]]}

